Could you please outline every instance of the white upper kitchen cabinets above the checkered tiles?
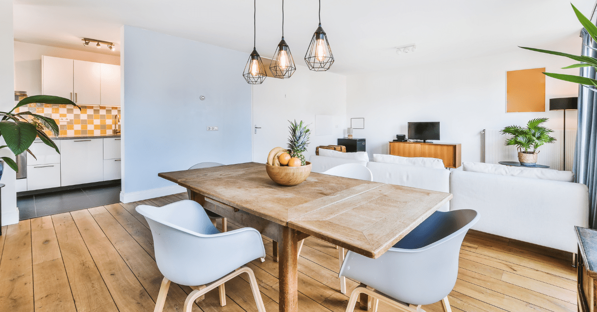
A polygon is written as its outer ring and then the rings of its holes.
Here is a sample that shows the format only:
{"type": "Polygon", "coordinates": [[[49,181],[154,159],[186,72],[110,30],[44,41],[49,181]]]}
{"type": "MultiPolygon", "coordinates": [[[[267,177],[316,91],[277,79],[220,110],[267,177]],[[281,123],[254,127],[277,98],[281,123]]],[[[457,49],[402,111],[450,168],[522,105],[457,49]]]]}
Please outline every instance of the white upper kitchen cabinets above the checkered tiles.
{"type": "Polygon", "coordinates": [[[81,105],[120,106],[120,66],[44,55],[42,94],[81,105]]]}

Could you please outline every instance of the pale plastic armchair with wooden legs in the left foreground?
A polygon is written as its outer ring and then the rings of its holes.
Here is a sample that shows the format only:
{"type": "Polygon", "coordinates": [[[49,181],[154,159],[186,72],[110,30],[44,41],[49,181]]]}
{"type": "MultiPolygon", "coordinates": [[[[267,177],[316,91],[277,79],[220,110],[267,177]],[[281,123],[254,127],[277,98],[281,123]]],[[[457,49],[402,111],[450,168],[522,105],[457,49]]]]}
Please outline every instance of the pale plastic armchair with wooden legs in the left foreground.
{"type": "Polygon", "coordinates": [[[220,290],[220,305],[224,306],[224,282],[241,273],[249,276],[257,310],[265,312],[253,270],[245,266],[265,257],[259,231],[245,227],[220,233],[202,206],[193,200],[162,207],[140,205],[136,211],[149,223],[155,261],[164,274],[154,312],[164,308],[170,282],[195,289],[184,302],[184,312],[190,312],[195,300],[216,287],[220,290]]]}

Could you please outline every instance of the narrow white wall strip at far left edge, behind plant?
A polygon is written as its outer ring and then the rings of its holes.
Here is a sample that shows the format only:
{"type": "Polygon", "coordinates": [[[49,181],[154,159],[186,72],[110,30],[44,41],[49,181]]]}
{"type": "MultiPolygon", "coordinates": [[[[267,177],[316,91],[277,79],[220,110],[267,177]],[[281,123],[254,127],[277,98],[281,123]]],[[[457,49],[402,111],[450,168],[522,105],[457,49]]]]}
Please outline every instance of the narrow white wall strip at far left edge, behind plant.
{"type": "MultiPolygon", "coordinates": [[[[13,41],[13,1],[0,0],[0,110],[4,112],[14,107],[13,41]]],[[[4,145],[4,140],[0,143],[4,145]]],[[[14,154],[7,148],[0,150],[0,156],[14,159],[14,154]]],[[[19,222],[15,181],[15,172],[5,165],[0,180],[0,183],[6,184],[2,188],[2,225],[19,222]]]]}

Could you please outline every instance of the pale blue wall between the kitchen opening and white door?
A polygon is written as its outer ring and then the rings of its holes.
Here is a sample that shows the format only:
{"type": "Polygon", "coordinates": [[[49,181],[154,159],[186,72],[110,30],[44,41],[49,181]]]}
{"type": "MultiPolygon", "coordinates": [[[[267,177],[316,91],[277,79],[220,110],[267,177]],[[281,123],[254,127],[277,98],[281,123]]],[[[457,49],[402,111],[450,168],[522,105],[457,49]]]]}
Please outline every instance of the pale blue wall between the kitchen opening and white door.
{"type": "Polygon", "coordinates": [[[248,54],[131,26],[121,42],[123,202],[183,190],[159,172],[251,160],[248,54]]]}

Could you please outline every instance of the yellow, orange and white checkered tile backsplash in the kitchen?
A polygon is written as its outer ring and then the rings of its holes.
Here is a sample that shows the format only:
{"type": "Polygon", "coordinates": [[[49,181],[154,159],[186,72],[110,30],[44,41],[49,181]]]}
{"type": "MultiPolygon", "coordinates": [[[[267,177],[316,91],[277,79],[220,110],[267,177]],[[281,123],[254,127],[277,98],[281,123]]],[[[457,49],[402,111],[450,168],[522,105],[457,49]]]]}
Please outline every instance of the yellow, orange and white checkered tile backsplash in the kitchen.
{"type": "MultiPolygon", "coordinates": [[[[54,119],[60,127],[60,137],[72,137],[73,135],[102,135],[112,134],[116,128],[116,115],[120,116],[120,107],[112,106],[84,106],[79,109],[64,104],[39,104],[32,103],[21,106],[14,110],[15,113],[32,112],[41,116],[54,119]],[[60,118],[66,117],[67,122],[60,123],[60,118]]],[[[25,115],[27,119],[33,116],[25,115]]],[[[45,130],[50,137],[52,132],[45,130]]]]}

